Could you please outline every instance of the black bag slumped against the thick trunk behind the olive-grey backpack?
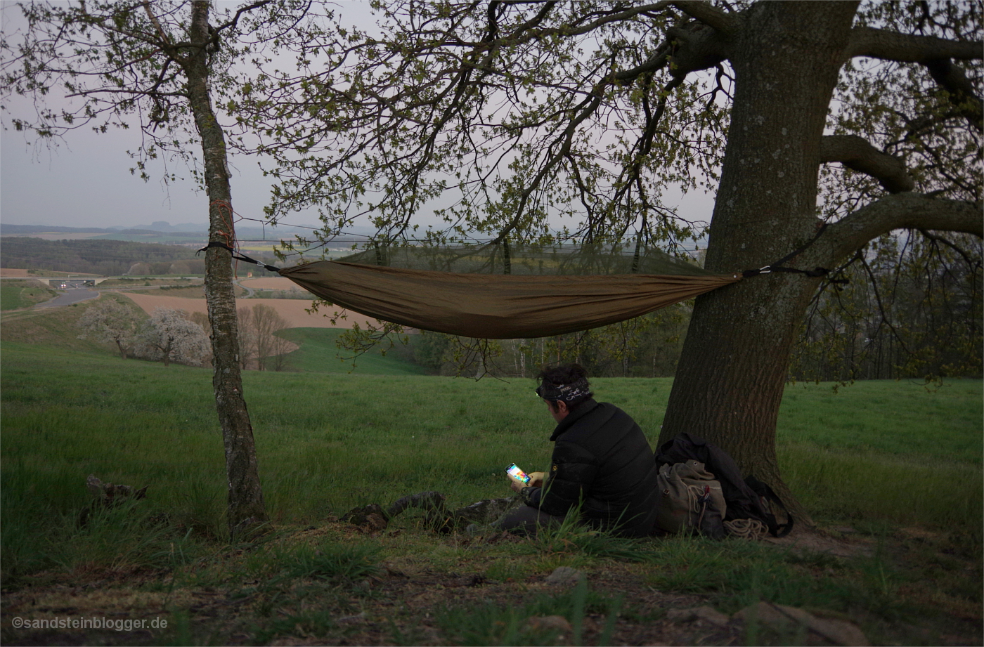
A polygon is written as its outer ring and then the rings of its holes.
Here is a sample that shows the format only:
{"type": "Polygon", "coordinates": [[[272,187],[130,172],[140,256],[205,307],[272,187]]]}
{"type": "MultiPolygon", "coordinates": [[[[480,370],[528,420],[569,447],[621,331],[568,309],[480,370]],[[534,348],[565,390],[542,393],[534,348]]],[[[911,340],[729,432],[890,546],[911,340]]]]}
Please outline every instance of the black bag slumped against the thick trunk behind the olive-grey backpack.
{"type": "MultiPolygon", "coordinates": [[[[656,453],[656,466],[698,461],[717,481],[726,502],[724,525],[731,534],[747,534],[748,520],[762,524],[773,537],[785,537],[793,528],[793,517],[772,489],[753,476],[743,479],[731,456],[704,439],[687,433],[664,442],[656,453]],[[779,524],[770,509],[774,503],[785,512],[786,523],[779,524]]],[[[755,524],[753,524],[755,525],[755,524]]]]}

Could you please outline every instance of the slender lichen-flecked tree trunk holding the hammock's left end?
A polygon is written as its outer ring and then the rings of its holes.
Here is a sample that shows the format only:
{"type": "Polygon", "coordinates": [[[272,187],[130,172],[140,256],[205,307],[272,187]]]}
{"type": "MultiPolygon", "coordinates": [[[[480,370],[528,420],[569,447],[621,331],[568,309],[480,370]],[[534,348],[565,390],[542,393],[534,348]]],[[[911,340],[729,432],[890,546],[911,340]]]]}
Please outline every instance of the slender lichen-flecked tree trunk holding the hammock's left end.
{"type": "MultiPolygon", "coordinates": [[[[202,137],[205,181],[209,195],[209,240],[232,246],[232,196],[226,162],[225,137],[215,118],[209,94],[210,3],[192,3],[190,40],[200,47],[187,63],[188,92],[195,123],[202,137]]],[[[256,461],[253,427],[243,399],[239,372],[239,338],[231,257],[226,250],[209,248],[205,259],[205,298],[212,324],[213,386],[215,409],[225,445],[228,482],[227,517],[235,536],[267,520],[256,461]]]]}

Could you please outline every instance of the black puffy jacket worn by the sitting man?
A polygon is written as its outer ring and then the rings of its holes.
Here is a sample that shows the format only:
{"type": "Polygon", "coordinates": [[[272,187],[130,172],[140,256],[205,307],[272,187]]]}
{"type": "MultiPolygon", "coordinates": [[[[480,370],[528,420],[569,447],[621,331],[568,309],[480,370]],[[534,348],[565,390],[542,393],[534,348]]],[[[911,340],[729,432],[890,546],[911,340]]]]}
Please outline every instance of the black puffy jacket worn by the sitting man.
{"type": "Polygon", "coordinates": [[[564,515],[582,503],[582,518],[625,535],[649,534],[659,500],[656,464],[643,430],[614,404],[587,399],[557,425],[543,488],[523,488],[523,500],[564,515]]]}

